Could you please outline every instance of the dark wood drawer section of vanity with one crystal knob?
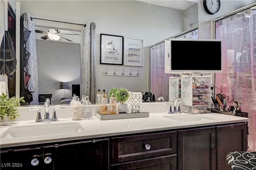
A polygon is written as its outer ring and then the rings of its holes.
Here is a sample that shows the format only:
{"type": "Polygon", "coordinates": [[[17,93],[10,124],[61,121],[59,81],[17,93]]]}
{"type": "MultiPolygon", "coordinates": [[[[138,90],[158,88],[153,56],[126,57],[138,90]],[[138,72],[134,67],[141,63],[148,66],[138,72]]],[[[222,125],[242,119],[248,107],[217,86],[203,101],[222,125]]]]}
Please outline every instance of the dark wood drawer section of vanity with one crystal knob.
{"type": "Polygon", "coordinates": [[[111,138],[111,170],[176,170],[177,132],[111,138]]]}

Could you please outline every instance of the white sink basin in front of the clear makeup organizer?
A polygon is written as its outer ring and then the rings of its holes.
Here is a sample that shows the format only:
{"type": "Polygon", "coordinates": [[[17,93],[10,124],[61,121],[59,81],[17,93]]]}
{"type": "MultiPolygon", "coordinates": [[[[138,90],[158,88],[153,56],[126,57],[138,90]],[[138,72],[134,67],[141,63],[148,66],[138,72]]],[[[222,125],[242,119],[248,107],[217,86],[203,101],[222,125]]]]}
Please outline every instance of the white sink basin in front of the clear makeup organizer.
{"type": "Polygon", "coordinates": [[[168,119],[176,120],[179,122],[194,122],[194,121],[205,121],[205,120],[213,120],[217,119],[214,116],[208,116],[204,114],[192,114],[192,115],[169,115],[163,116],[168,119]]]}

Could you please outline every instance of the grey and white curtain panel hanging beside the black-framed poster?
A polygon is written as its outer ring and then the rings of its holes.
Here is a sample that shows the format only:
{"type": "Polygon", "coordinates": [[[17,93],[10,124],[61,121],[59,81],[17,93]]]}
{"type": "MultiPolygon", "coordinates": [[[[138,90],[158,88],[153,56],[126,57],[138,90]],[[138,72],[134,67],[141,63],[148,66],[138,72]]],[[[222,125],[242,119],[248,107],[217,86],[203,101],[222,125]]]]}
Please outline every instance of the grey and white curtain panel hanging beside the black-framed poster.
{"type": "Polygon", "coordinates": [[[95,62],[95,23],[87,22],[82,35],[82,59],[81,59],[81,95],[89,96],[89,100],[95,103],[96,95],[96,62],[95,62]]]}

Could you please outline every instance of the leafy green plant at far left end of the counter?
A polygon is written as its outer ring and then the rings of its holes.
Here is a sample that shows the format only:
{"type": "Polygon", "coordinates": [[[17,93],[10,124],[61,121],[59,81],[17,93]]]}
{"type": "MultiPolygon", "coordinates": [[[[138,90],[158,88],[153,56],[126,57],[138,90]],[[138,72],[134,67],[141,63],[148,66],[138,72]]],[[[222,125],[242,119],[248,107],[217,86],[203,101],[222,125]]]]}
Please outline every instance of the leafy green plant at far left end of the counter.
{"type": "Polygon", "coordinates": [[[20,102],[25,102],[21,98],[11,97],[9,98],[6,94],[2,93],[0,95],[0,117],[1,117],[1,125],[8,123],[8,118],[12,121],[16,118],[16,116],[20,116],[17,114],[16,106],[20,106],[20,102]]]}

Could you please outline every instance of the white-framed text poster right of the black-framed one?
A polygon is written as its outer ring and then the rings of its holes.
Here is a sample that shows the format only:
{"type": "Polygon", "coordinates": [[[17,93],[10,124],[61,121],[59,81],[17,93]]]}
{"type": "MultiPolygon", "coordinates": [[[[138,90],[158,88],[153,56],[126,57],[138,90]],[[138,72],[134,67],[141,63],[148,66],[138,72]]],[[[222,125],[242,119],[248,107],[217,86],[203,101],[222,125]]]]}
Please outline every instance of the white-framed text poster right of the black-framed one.
{"type": "Polygon", "coordinates": [[[143,40],[124,38],[124,65],[144,66],[143,40]]]}

